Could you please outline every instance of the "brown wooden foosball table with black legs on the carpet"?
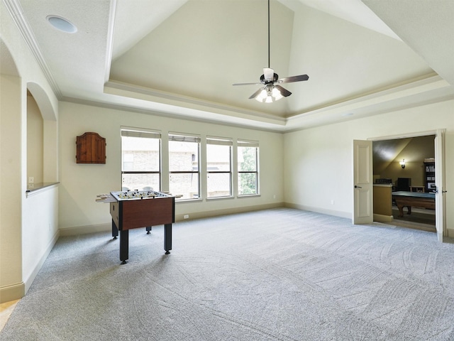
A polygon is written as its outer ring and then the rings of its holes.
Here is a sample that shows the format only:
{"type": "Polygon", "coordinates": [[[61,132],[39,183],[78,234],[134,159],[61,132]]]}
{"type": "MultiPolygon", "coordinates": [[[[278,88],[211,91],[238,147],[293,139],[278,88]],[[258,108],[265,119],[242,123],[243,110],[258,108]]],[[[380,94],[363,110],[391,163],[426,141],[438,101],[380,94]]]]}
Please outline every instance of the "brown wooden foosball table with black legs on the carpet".
{"type": "Polygon", "coordinates": [[[175,222],[175,197],[154,190],[128,190],[98,195],[97,202],[109,202],[112,237],[120,235],[120,261],[129,258],[129,230],[145,227],[150,234],[153,225],[164,225],[165,254],[172,249],[172,223],[175,222]]]}

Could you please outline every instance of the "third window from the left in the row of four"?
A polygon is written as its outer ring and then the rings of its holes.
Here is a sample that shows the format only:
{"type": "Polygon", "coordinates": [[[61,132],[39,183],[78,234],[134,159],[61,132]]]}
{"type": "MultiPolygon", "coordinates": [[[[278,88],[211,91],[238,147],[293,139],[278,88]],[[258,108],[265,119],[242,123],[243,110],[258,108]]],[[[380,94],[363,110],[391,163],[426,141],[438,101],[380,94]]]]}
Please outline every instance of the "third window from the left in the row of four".
{"type": "Polygon", "coordinates": [[[206,192],[207,197],[232,195],[231,139],[206,138],[206,192]]]}

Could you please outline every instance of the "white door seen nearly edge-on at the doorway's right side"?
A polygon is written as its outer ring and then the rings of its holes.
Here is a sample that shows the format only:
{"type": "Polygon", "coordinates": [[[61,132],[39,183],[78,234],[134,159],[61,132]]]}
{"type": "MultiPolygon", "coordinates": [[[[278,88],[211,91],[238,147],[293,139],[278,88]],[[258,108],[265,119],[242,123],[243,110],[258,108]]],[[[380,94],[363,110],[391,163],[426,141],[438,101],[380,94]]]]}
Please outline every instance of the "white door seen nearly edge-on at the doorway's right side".
{"type": "Polygon", "coordinates": [[[444,181],[444,160],[445,160],[445,132],[437,130],[435,138],[435,224],[437,237],[443,242],[445,232],[445,181],[444,181]]]}

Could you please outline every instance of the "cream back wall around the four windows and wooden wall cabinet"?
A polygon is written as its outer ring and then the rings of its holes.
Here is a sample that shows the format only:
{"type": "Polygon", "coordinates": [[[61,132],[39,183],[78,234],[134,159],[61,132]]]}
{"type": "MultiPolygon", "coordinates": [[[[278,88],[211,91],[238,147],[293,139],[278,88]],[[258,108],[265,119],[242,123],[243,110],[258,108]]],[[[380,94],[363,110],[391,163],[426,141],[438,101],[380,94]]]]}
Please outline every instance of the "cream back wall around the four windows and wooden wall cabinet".
{"type": "MultiPolygon", "coordinates": [[[[70,102],[60,102],[59,124],[59,222],[62,233],[94,231],[91,227],[100,230],[109,228],[108,224],[109,226],[111,224],[109,205],[97,203],[95,198],[100,193],[121,190],[121,126],[157,129],[162,131],[163,136],[173,131],[200,134],[202,140],[209,135],[260,142],[260,196],[177,202],[175,209],[177,220],[182,215],[193,218],[282,205],[282,134],[70,102]],[[106,138],[105,165],[76,163],[76,137],[87,131],[94,131],[106,138]],[[89,228],[81,229],[81,227],[89,228]]],[[[204,153],[201,158],[204,158],[204,153]]],[[[201,164],[203,168],[204,163],[201,164]]],[[[204,181],[203,176],[201,180],[204,181]]]]}

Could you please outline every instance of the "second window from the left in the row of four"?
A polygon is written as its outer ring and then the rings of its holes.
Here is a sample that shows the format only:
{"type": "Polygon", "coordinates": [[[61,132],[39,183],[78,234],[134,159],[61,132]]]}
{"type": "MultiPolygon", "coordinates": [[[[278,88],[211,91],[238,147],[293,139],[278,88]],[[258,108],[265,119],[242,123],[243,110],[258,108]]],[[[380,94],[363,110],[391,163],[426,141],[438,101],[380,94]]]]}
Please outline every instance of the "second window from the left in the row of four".
{"type": "Polygon", "coordinates": [[[177,200],[200,197],[200,137],[169,134],[169,190],[177,200]]]}

